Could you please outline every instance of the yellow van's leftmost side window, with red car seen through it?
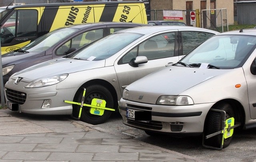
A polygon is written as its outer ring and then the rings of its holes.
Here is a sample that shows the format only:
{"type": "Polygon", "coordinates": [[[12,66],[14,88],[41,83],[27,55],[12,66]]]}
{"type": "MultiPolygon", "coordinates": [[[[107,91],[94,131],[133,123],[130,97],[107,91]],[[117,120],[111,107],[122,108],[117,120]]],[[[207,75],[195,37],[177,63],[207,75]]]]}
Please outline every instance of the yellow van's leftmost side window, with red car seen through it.
{"type": "Polygon", "coordinates": [[[1,43],[10,43],[15,36],[16,29],[16,12],[1,27],[1,43]]]}

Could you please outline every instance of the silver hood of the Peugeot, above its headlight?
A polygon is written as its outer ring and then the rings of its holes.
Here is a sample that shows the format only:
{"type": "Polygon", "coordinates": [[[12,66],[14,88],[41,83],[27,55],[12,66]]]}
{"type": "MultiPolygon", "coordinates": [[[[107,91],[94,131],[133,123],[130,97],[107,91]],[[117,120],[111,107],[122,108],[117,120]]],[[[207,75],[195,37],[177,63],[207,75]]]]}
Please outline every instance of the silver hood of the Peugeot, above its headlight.
{"type": "Polygon", "coordinates": [[[12,77],[22,77],[22,81],[30,82],[32,80],[43,78],[52,75],[74,73],[77,71],[84,71],[89,69],[95,69],[105,66],[105,60],[100,61],[87,61],[70,58],[59,58],[44,63],[28,67],[12,77]]]}

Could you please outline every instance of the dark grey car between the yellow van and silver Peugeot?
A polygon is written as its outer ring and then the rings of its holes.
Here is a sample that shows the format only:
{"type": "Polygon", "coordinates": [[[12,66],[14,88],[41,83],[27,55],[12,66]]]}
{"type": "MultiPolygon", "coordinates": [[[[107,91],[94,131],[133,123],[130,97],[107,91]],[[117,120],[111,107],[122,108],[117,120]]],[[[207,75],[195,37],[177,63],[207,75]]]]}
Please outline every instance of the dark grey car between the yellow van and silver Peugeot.
{"type": "Polygon", "coordinates": [[[2,55],[4,84],[12,74],[22,69],[72,53],[113,32],[138,26],[146,24],[99,22],[58,28],[21,49],[2,55]]]}

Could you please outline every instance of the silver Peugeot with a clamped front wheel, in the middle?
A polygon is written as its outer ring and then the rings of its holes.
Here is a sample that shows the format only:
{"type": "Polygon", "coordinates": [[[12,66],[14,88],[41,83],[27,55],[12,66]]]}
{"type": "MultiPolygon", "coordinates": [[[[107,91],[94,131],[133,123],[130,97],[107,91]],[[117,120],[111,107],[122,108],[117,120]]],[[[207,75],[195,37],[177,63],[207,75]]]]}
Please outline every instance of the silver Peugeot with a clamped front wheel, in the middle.
{"type": "MultiPolygon", "coordinates": [[[[9,109],[38,115],[78,117],[84,103],[106,101],[118,109],[118,100],[130,83],[168,63],[177,62],[202,41],[217,34],[187,26],[145,26],[110,34],[86,47],[15,73],[5,85],[9,109]]],[[[80,120],[90,124],[106,121],[113,111],[94,114],[83,107],[80,120]]]]}

